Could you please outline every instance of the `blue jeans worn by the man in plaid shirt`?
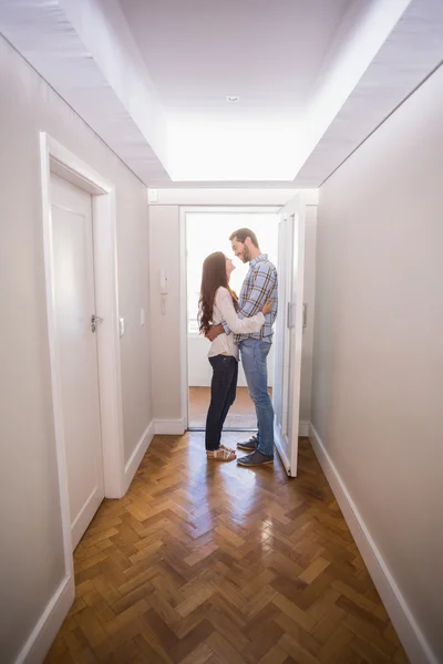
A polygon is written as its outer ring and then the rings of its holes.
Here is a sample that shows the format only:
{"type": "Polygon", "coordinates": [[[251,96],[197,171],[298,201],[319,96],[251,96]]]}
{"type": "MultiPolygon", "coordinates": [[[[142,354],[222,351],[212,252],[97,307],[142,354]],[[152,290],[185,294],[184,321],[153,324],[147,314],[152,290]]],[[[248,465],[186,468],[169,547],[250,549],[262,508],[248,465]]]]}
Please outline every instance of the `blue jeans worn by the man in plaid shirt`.
{"type": "Polygon", "coordinates": [[[274,408],[268,392],[266,364],[270,343],[249,338],[240,341],[238,347],[250,398],[256,407],[258,450],[274,456],[274,408]]]}

